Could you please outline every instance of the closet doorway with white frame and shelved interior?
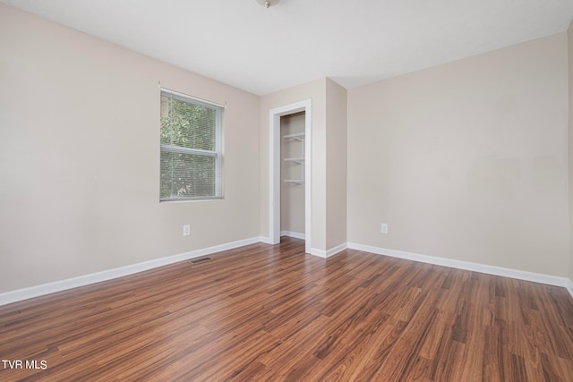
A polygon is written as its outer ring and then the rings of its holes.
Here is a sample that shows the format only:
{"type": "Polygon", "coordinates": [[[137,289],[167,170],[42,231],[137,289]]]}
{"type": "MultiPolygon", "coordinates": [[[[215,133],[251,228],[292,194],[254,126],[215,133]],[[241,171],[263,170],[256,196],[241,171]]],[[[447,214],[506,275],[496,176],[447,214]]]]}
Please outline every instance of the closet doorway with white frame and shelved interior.
{"type": "Polygon", "coordinates": [[[271,109],[269,117],[269,239],[304,238],[311,253],[311,100],[271,109]]]}

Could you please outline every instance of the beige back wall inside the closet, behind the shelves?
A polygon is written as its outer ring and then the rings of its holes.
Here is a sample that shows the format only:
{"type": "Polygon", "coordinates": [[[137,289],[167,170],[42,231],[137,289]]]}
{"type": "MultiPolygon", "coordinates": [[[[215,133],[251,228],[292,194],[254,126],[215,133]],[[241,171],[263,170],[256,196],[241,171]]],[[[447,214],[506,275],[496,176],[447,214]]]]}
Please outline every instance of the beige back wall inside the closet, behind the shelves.
{"type": "MultiPolygon", "coordinates": [[[[281,117],[281,137],[299,132],[304,133],[304,112],[281,117]]],[[[304,184],[285,182],[304,179],[304,163],[284,160],[304,157],[304,140],[281,139],[280,157],[280,230],[304,234],[304,184]]]]}

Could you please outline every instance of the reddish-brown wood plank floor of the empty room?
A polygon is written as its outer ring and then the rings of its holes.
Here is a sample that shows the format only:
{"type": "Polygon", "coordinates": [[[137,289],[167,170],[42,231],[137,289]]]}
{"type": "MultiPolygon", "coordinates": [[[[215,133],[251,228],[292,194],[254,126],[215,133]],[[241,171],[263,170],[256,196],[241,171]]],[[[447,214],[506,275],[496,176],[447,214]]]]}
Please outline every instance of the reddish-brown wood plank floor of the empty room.
{"type": "Polygon", "coordinates": [[[211,258],[0,307],[0,380],[573,381],[563,288],[288,238],[211,258]]]}

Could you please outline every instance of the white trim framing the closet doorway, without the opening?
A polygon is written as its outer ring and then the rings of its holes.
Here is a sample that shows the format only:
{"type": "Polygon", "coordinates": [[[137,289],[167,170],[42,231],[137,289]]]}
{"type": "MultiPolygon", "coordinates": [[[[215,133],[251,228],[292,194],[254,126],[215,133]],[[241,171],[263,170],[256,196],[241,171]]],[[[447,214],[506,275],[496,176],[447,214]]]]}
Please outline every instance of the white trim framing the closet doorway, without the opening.
{"type": "Polygon", "coordinates": [[[269,110],[269,239],[280,242],[280,117],[304,112],[304,250],[312,249],[312,101],[275,107],[269,110]]]}

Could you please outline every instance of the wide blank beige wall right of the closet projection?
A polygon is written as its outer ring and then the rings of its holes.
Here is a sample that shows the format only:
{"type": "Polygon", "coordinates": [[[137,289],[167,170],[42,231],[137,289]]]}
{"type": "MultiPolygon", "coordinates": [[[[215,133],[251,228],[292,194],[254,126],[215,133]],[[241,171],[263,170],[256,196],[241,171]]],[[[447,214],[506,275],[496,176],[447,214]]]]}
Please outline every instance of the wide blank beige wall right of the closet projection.
{"type": "Polygon", "coordinates": [[[349,90],[348,241],[568,276],[567,59],[561,33],[349,90]]]}

